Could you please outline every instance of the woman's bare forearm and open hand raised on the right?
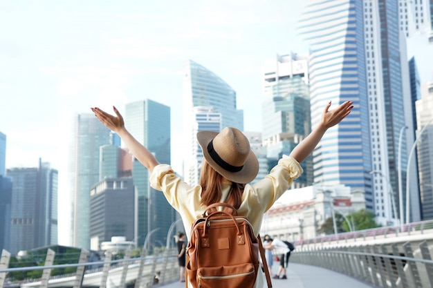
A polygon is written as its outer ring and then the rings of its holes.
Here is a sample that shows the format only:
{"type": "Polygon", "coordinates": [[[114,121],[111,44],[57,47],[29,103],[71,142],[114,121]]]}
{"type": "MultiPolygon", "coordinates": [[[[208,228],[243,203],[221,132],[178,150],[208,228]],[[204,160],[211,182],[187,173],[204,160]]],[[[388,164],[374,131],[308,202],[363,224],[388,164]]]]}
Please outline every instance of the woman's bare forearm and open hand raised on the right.
{"type": "Polygon", "coordinates": [[[295,158],[299,163],[304,161],[305,158],[313,152],[315,146],[320,142],[320,139],[322,139],[326,130],[340,123],[344,117],[349,115],[353,108],[352,104],[353,102],[347,101],[338,106],[338,108],[329,111],[329,107],[331,107],[331,102],[329,102],[324,108],[320,124],[307,137],[305,137],[304,140],[293,148],[290,156],[295,158]]]}

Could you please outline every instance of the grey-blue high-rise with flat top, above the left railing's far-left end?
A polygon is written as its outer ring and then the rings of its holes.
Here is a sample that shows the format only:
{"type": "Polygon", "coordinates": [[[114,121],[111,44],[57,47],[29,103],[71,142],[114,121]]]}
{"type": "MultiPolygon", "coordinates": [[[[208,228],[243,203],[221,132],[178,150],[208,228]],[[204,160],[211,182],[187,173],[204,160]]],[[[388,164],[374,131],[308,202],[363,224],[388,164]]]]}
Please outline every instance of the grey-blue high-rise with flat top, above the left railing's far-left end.
{"type": "Polygon", "coordinates": [[[37,168],[12,168],[10,253],[57,244],[57,170],[41,162],[37,168]]]}

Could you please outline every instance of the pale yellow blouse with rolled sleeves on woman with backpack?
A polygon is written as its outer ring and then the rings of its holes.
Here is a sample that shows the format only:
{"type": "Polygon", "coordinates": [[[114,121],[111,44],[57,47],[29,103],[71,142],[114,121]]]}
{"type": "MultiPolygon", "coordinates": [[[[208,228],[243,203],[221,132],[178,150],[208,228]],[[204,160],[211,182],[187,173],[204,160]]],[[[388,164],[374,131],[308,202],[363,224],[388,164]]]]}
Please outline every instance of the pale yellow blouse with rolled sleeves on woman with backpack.
{"type": "MultiPolygon", "coordinates": [[[[293,157],[283,155],[263,180],[252,185],[246,184],[238,214],[248,217],[256,236],[259,234],[264,213],[303,172],[293,157]]],[[[220,202],[228,199],[230,184],[230,181],[223,183],[220,202]]],[[[169,204],[181,215],[186,236],[190,238],[192,223],[202,217],[205,209],[200,204],[201,186],[190,186],[182,182],[181,177],[175,175],[172,167],[167,164],[160,164],[154,168],[150,175],[150,185],[156,190],[163,191],[169,204]]]]}

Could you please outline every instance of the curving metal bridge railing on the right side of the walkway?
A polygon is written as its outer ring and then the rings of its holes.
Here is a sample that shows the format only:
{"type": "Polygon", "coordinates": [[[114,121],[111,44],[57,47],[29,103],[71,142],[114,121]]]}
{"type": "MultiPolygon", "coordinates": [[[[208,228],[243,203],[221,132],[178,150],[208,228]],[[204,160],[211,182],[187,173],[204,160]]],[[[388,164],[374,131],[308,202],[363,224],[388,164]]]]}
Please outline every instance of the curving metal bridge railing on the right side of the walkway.
{"type": "Polygon", "coordinates": [[[326,249],[297,248],[291,262],[347,274],[376,287],[433,287],[433,245],[381,244],[326,249]]]}

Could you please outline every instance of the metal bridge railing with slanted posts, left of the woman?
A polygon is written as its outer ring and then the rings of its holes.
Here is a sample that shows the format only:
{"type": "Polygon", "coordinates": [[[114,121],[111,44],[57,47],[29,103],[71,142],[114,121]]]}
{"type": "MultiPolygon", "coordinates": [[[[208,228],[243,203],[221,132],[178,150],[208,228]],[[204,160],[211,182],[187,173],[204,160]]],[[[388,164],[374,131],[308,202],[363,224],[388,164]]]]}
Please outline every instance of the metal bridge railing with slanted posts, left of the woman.
{"type": "Polygon", "coordinates": [[[0,288],[3,287],[115,287],[144,288],[173,282],[179,278],[176,249],[164,249],[147,256],[143,249],[140,258],[130,258],[129,253],[120,260],[111,260],[107,253],[104,261],[87,262],[89,251],[82,250],[80,260],[74,264],[52,265],[55,253],[48,249],[44,266],[8,268],[10,253],[3,250],[0,258],[0,288]],[[75,273],[50,276],[52,269],[76,267],[75,273]],[[92,268],[96,267],[96,268],[92,268]],[[13,281],[12,272],[43,270],[41,278],[13,281]]]}

